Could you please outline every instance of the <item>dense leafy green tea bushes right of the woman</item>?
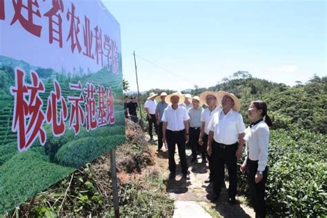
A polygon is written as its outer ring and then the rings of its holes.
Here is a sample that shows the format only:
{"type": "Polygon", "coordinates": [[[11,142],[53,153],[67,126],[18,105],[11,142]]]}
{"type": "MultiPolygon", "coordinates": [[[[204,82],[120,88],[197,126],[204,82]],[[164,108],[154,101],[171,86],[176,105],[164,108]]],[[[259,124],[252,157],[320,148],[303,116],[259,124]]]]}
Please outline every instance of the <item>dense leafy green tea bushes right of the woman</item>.
{"type": "MultiPolygon", "coordinates": [[[[266,205],[271,215],[327,215],[326,140],[296,127],[270,131],[266,205]]],[[[245,177],[239,181],[246,187],[245,177]]]]}

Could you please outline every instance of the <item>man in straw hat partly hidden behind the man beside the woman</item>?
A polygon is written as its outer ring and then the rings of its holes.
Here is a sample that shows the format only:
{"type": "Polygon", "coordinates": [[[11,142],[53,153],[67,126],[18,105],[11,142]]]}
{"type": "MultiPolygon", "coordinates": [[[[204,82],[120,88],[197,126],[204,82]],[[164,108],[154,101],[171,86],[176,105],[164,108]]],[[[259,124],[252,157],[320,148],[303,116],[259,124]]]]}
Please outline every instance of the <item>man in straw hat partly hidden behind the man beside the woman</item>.
{"type": "MultiPolygon", "coordinates": [[[[202,114],[201,114],[201,132],[199,136],[199,145],[201,146],[201,155],[202,155],[202,160],[206,160],[206,157],[208,159],[208,164],[209,164],[209,177],[206,179],[204,182],[205,183],[210,183],[213,181],[213,172],[214,170],[212,169],[212,157],[208,155],[207,153],[207,146],[208,146],[208,135],[209,135],[209,122],[212,116],[216,112],[220,112],[220,101],[217,99],[217,92],[202,92],[200,95],[200,101],[204,102],[208,108],[204,109],[202,114]]],[[[224,168],[223,168],[224,171],[224,168]]]]}

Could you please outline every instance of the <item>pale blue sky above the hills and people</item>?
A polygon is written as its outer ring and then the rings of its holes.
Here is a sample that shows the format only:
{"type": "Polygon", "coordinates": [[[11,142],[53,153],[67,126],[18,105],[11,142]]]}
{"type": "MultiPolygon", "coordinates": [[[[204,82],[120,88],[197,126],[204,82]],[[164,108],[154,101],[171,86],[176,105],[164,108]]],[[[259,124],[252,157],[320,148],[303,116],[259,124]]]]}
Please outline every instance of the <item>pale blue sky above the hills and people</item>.
{"type": "Polygon", "coordinates": [[[130,90],[133,50],[140,90],[214,86],[237,70],[290,86],[326,76],[326,1],[103,3],[120,23],[130,90]]]}

